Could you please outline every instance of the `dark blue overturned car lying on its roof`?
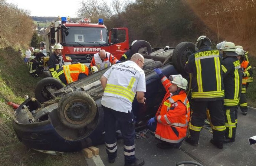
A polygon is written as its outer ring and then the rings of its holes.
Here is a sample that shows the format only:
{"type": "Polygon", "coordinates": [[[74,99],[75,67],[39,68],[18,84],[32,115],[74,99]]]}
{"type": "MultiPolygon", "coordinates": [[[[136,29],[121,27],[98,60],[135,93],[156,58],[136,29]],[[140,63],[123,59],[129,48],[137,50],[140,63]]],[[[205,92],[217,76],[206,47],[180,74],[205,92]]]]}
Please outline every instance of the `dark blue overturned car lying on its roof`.
{"type": "MultiPolygon", "coordinates": [[[[166,93],[153,69],[160,68],[167,77],[182,74],[186,60],[195,51],[191,42],[152,51],[147,42],[141,43],[148,49],[148,54],[142,54],[147,100],[145,105],[137,100],[132,103],[137,130],[145,128],[147,120],[154,117],[166,93]]],[[[137,46],[136,52],[143,46],[137,46]]],[[[35,90],[36,99],[28,98],[14,113],[13,128],[18,139],[29,148],[49,153],[79,151],[104,143],[103,89],[99,80],[106,70],[65,87],[51,77],[41,80],[35,90]]]]}

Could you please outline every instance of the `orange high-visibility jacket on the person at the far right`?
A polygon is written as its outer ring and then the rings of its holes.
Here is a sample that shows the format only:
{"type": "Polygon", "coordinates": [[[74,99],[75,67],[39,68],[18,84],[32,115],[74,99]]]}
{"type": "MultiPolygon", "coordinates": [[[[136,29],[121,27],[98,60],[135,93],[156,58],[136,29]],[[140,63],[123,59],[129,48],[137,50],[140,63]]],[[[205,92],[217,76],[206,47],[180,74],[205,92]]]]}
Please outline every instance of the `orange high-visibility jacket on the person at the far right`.
{"type": "MultiPolygon", "coordinates": [[[[252,66],[246,60],[243,60],[243,61],[240,60],[240,63],[241,63],[241,68],[243,72],[242,84],[246,85],[248,77],[252,76],[252,66]]],[[[246,93],[245,86],[242,86],[242,93],[246,93]]]]}

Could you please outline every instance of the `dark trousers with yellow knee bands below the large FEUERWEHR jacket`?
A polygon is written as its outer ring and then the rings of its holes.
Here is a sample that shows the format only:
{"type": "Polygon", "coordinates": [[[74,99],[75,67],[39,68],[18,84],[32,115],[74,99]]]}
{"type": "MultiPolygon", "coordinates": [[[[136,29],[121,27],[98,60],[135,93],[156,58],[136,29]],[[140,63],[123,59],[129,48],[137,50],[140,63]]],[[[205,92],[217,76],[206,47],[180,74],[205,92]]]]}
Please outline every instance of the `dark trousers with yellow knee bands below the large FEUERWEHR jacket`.
{"type": "Polygon", "coordinates": [[[194,140],[199,140],[200,130],[203,127],[204,119],[206,118],[206,109],[210,114],[210,121],[213,125],[213,139],[223,142],[225,134],[225,117],[223,113],[223,100],[218,101],[192,101],[193,110],[191,121],[189,124],[189,137],[194,140]]]}

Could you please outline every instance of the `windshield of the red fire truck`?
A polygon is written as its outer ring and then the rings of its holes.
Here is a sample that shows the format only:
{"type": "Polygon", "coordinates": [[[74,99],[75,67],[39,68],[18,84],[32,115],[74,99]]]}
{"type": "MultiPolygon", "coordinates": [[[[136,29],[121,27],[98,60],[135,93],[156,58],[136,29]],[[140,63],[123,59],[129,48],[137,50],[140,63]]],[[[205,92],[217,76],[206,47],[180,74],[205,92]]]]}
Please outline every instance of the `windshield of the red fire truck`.
{"type": "Polygon", "coordinates": [[[68,35],[63,32],[63,41],[86,45],[96,43],[98,45],[108,44],[106,28],[98,27],[69,27],[68,35]]]}

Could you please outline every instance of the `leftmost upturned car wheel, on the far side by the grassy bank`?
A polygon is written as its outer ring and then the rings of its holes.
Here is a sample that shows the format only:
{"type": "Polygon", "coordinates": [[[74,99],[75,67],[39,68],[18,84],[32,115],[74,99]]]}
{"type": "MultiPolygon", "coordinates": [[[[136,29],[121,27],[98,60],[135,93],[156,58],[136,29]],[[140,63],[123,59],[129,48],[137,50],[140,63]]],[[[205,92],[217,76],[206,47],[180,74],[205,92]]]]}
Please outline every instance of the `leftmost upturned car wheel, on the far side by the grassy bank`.
{"type": "Polygon", "coordinates": [[[35,97],[40,103],[49,101],[52,99],[51,93],[63,87],[63,83],[53,77],[44,78],[36,85],[35,97]]]}

